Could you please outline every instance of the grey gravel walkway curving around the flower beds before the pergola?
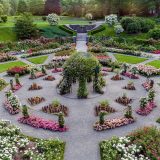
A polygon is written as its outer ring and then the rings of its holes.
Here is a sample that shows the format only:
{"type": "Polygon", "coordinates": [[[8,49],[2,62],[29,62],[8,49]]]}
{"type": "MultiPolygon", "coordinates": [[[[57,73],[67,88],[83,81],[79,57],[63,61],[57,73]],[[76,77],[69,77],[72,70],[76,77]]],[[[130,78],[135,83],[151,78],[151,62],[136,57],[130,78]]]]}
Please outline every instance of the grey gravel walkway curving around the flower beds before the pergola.
{"type": "MultiPolygon", "coordinates": [[[[51,74],[51,73],[50,73],[51,74]]],[[[104,132],[96,132],[93,130],[92,125],[96,121],[96,117],[94,116],[94,106],[98,101],[108,99],[111,106],[118,110],[115,114],[110,114],[107,118],[113,117],[121,117],[123,116],[125,107],[116,103],[114,100],[121,96],[123,93],[127,93],[129,97],[134,99],[132,104],[133,110],[136,110],[139,107],[139,98],[141,96],[145,96],[147,92],[141,86],[142,82],[145,81],[144,77],[141,77],[139,80],[133,80],[135,82],[135,86],[137,88],[136,91],[126,91],[123,90],[122,87],[126,85],[129,81],[129,78],[125,78],[123,81],[112,81],[110,78],[114,73],[109,73],[106,76],[106,81],[108,85],[106,86],[106,92],[104,95],[94,98],[94,99],[68,99],[64,98],[57,94],[56,92],[56,84],[59,82],[61,76],[59,74],[53,74],[56,77],[56,81],[48,82],[43,81],[43,78],[37,80],[29,80],[29,76],[25,76],[21,78],[23,82],[23,87],[16,92],[18,97],[20,98],[22,104],[27,104],[26,99],[31,96],[43,96],[46,98],[44,103],[41,103],[37,106],[32,107],[30,110],[31,114],[41,116],[46,119],[57,120],[56,116],[49,115],[40,111],[41,107],[49,104],[54,98],[58,98],[62,104],[65,104],[69,107],[69,117],[66,118],[66,124],[69,126],[69,131],[66,133],[57,133],[46,131],[43,129],[34,129],[30,126],[19,124],[17,122],[17,118],[20,116],[11,116],[9,113],[3,108],[4,102],[4,94],[5,90],[0,92],[0,116],[2,119],[8,119],[13,124],[19,126],[22,131],[30,136],[39,137],[39,138],[55,138],[58,137],[67,142],[66,144],[66,152],[65,152],[65,160],[99,160],[99,147],[98,143],[103,139],[109,139],[112,136],[124,136],[127,133],[137,129],[139,127],[148,126],[148,125],[157,125],[155,121],[159,117],[160,110],[160,87],[157,85],[159,82],[159,77],[153,78],[155,80],[155,90],[156,90],[156,103],[158,105],[154,111],[148,115],[147,117],[142,117],[137,115],[134,111],[133,114],[137,118],[137,121],[134,124],[116,128],[113,130],[108,130],[104,132]],[[28,91],[28,87],[36,82],[43,86],[43,89],[40,91],[28,91]]],[[[10,77],[3,76],[8,82],[10,77]]],[[[6,88],[7,89],[7,88],[6,88]]],[[[160,126],[159,126],[160,127],[160,126]]]]}

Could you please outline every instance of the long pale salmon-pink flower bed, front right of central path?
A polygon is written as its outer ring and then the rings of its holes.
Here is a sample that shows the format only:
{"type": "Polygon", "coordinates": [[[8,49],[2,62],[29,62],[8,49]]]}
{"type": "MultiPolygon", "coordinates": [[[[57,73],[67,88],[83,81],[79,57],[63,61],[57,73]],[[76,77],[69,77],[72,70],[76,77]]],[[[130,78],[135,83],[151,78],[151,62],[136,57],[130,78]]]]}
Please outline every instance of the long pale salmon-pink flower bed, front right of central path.
{"type": "Polygon", "coordinates": [[[105,120],[104,124],[101,125],[99,122],[96,122],[93,126],[96,131],[103,131],[107,129],[114,129],[116,127],[121,127],[135,122],[133,118],[114,118],[110,120],[105,120]]]}

